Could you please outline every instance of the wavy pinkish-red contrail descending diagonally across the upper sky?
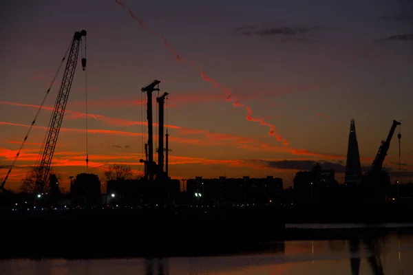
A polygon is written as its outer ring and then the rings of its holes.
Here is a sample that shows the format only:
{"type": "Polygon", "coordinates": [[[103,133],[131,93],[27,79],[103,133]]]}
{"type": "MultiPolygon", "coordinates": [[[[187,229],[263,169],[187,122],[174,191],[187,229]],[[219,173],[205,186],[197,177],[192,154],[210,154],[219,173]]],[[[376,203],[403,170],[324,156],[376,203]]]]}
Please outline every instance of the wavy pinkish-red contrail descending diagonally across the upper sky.
{"type": "MultiPolygon", "coordinates": [[[[151,28],[149,28],[149,26],[146,25],[141,19],[138,19],[137,17],[135,17],[134,13],[131,11],[131,9],[129,7],[127,7],[127,5],[125,5],[124,3],[121,3],[118,0],[116,0],[115,2],[118,5],[120,5],[122,8],[125,8],[129,12],[130,16],[136,22],[138,22],[140,27],[142,27],[144,30],[146,30],[150,34],[155,34],[156,36],[158,36],[158,38],[162,41],[163,45],[167,48],[167,50],[169,50],[169,52],[171,52],[171,54],[173,54],[175,56],[176,61],[178,61],[180,63],[184,63],[184,60],[182,59],[182,56],[180,54],[178,54],[178,52],[175,50],[175,48],[171,44],[168,43],[165,36],[162,36],[162,35],[158,34],[158,32],[155,32],[155,31],[151,30],[151,28]]],[[[185,63],[187,63],[189,65],[193,65],[193,63],[188,63],[188,62],[185,62],[185,63]]],[[[231,98],[233,98],[233,93],[231,92],[230,89],[224,87],[217,80],[211,78],[210,76],[207,76],[207,74],[204,73],[204,70],[202,68],[200,68],[200,72],[201,72],[202,80],[211,83],[213,85],[213,87],[215,87],[215,88],[222,89],[222,91],[224,91],[224,93],[226,94],[226,101],[232,102],[231,98]]],[[[251,107],[248,107],[246,104],[242,104],[241,102],[238,102],[238,100],[235,100],[235,102],[233,102],[233,106],[234,107],[243,107],[247,112],[246,120],[251,121],[251,122],[259,122],[263,126],[268,126],[270,128],[270,131],[268,132],[268,134],[273,135],[279,142],[282,142],[282,144],[284,144],[285,146],[288,146],[288,141],[286,139],[282,138],[281,135],[276,133],[276,128],[275,128],[274,124],[266,122],[262,118],[254,118],[253,117],[253,115],[252,115],[253,110],[251,109],[251,107]]]]}

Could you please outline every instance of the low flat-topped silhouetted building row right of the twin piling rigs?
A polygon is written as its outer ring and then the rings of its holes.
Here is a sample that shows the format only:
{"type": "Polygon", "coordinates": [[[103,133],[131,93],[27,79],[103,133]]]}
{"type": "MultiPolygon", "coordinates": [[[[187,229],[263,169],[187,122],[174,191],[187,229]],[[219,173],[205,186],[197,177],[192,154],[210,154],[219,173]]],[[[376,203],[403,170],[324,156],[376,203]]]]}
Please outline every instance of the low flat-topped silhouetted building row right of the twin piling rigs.
{"type": "Polygon", "coordinates": [[[202,203],[272,203],[280,201],[283,182],[280,178],[268,176],[218,179],[187,179],[186,195],[189,202],[202,203]]]}

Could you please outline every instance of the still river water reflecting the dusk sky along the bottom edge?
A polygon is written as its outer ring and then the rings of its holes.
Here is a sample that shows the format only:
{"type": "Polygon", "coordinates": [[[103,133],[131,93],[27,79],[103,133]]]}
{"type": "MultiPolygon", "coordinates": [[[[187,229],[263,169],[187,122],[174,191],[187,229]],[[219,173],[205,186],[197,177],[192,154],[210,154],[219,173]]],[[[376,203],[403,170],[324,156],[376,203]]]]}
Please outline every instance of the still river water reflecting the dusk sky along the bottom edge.
{"type": "MultiPolygon", "coordinates": [[[[374,239],[285,241],[276,250],[171,259],[47,259],[0,261],[1,275],[407,275],[413,274],[413,233],[374,239]],[[359,273],[357,273],[359,269],[359,273]]],[[[127,249],[127,248],[125,248],[127,249]]]]}

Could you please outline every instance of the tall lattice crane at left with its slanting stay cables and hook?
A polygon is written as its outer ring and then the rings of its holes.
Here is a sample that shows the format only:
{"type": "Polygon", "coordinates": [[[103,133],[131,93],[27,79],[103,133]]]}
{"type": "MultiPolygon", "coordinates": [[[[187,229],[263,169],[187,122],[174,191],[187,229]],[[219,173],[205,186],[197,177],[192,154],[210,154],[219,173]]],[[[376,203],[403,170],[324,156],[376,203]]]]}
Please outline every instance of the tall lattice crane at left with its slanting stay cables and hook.
{"type": "MultiPolygon", "coordinates": [[[[34,186],[35,192],[40,192],[40,193],[43,192],[46,182],[47,182],[47,177],[49,176],[49,173],[50,173],[50,164],[52,164],[52,158],[54,154],[54,149],[56,148],[57,137],[59,136],[59,131],[61,129],[63,116],[65,114],[67,98],[69,98],[70,88],[72,87],[74,72],[76,71],[76,65],[78,62],[78,53],[79,53],[79,49],[81,48],[82,37],[86,36],[86,34],[87,32],[85,30],[75,32],[73,39],[72,39],[72,43],[70,45],[70,52],[69,52],[69,56],[67,57],[67,63],[65,67],[65,72],[63,74],[61,87],[59,89],[59,94],[56,98],[56,102],[54,103],[52,117],[50,118],[50,126],[47,132],[47,139],[45,140],[45,143],[42,145],[43,153],[39,154],[39,155],[42,155],[42,157],[41,157],[41,162],[39,166],[36,168],[36,183],[34,186]]],[[[61,66],[63,65],[64,60],[65,60],[65,57],[63,57],[62,59],[61,66]]],[[[81,59],[83,71],[85,71],[86,69],[86,61],[87,59],[86,59],[86,41],[85,41],[85,57],[82,57],[81,59]]],[[[47,98],[47,95],[50,92],[50,89],[54,83],[54,80],[56,80],[56,76],[59,73],[60,68],[61,67],[59,67],[58,71],[56,72],[56,75],[54,76],[49,89],[47,89],[45,98],[43,99],[43,102],[41,103],[41,106],[39,107],[39,111],[37,111],[36,116],[34,117],[32,124],[30,125],[28,134],[25,135],[23,143],[21,144],[21,147],[19,151],[17,152],[14,162],[12,166],[10,167],[10,169],[8,170],[8,174],[6,175],[5,179],[3,180],[3,183],[0,186],[1,187],[0,189],[2,190],[6,190],[4,189],[4,185],[6,184],[6,179],[10,175],[10,172],[17,160],[17,157],[19,157],[21,153],[21,149],[23,148],[23,145],[25,144],[25,141],[28,139],[28,135],[32,129],[32,126],[36,122],[36,118],[39,115],[41,108],[43,107],[45,99],[47,98]]],[[[88,157],[86,157],[86,163],[87,162],[89,162],[88,157]]]]}

